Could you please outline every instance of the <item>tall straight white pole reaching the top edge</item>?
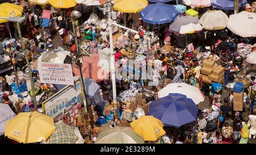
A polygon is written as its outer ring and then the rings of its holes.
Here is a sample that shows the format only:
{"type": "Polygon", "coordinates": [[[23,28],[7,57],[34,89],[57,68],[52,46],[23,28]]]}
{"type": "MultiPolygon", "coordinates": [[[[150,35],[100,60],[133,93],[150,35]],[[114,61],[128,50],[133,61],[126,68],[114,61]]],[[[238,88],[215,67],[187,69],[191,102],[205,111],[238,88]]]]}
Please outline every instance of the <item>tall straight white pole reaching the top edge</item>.
{"type": "Polygon", "coordinates": [[[117,104],[117,87],[115,86],[115,55],[113,48],[113,33],[112,33],[112,19],[111,19],[111,1],[108,0],[108,23],[109,23],[109,43],[110,43],[110,66],[111,66],[111,77],[112,77],[112,87],[113,87],[113,102],[117,104]]]}

